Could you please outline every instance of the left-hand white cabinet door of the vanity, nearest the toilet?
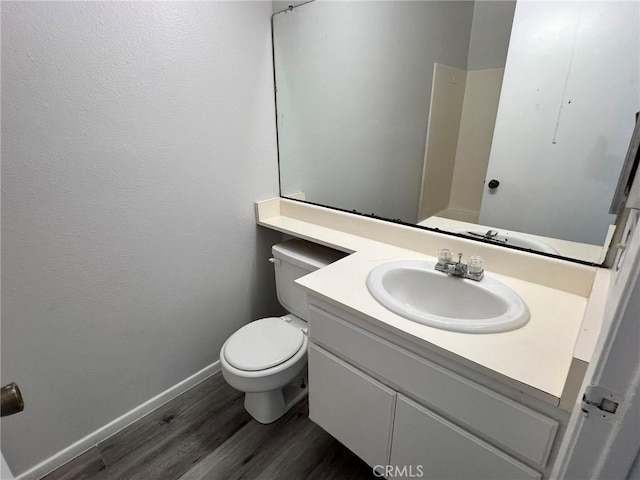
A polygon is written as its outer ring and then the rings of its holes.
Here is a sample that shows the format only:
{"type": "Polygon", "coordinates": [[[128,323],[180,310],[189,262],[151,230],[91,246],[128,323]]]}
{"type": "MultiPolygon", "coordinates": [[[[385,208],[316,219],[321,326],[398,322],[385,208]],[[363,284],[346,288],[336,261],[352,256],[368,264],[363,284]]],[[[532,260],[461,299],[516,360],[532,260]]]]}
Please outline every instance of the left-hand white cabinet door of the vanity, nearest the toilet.
{"type": "Polygon", "coordinates": [[[309,418],[372,467],[389,460],[396,393],[309,347],[309,418]]]}

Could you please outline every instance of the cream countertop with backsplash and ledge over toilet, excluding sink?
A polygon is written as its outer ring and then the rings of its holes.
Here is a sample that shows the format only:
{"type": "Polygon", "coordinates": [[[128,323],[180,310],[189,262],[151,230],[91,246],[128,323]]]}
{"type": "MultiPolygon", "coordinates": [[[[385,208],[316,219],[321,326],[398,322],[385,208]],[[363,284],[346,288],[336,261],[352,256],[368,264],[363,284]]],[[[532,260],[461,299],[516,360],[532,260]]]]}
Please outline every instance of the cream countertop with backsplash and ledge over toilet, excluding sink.
{"type": "Polygon", "coordinates": [[[421,348],[490,372],[564,410],[573,408],[602,329],[610,270],[282,198],[257,202],[256,221],[351,253],[299,279],[308,292],[421,348]],[[448,332],[406,320],[370,295],[365,280],[375,266],[399,259],[434,261],[441,248],[481,255],[487,276],[527,303],[529,323],[504,333],[448,332]]]}

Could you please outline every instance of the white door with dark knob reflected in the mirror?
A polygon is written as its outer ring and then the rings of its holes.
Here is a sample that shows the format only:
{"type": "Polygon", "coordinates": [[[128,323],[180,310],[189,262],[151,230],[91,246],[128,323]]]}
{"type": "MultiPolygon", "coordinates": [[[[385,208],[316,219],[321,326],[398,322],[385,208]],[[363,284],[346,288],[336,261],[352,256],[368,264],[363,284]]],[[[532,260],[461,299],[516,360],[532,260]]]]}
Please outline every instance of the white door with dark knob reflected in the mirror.
{"type": "Polygon", "coordinates": [[[639,16],[635,1],[518,2],[480,223],[604,243],[640,110],[639,16]]]}

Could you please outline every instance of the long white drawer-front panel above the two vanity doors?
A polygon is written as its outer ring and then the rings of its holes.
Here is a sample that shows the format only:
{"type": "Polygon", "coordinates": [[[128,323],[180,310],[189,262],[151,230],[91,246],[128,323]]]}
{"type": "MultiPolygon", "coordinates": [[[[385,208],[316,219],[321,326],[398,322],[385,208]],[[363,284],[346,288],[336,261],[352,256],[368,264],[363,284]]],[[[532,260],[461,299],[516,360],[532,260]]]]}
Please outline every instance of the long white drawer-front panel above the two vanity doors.
{"type": "Polygon", "coordinates": [[[315,306],[309,307],[309,330],[312,341],[329,346],[502,448],[546,465],[557,421],[315,306]]]}

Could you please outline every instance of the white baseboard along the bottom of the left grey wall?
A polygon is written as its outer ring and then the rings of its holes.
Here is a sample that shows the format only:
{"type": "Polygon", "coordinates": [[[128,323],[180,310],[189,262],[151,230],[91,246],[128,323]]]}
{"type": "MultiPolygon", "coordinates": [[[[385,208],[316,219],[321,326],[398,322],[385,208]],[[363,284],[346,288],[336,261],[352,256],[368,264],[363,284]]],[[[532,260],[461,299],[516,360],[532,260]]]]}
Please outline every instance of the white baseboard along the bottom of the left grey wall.
{"type": "Polygon", "coordinates": [[[16,477],[16,480],[38,480],[44,477],[46,474],[54,471],[56,468],[61,467],[69,460],[73,460],[78,455],[86,452],[91,447],[96,446],[98,443],[106,440],[110,436],[118,433],[125,427],[128,427],[132,423],[140,420],[145,415],[151,413],[158,407],[161,407],[165,403],[173,400],[178,395],[183,394],[190,388],[196,386],[198,383],[206,380],[211,375],[214,375],[220,371],[220,360],[212,363],[211,365],[204,367],[199,372],[184,379],[180,383],[177,383],[173,387],[165,390],[164,392],[156,395],[155,397],[147,400],[146,402],[138,405],[133,410],[125,413],[121,417],[116,418],[112,422],[107,423],[105,426],[99,428],[93,433],[90,433],[86,437],[78,440],[77,442],[69,445],[64,450],[59,451],[55,455],[47,458],[43,462],[40,462],[35,467],[21,473],[16,477]]]}

